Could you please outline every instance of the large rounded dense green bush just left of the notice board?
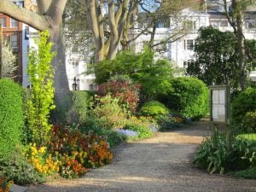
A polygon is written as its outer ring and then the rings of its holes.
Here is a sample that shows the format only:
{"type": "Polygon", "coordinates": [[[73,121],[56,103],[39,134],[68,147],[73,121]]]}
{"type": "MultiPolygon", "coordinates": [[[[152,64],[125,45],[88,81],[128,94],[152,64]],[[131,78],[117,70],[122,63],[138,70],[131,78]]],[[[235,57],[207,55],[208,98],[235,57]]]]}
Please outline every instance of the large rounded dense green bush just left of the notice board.
{"type": "Polygon", "coordinates": [[[172,79],[172,89],[166,96],[160,98],[160,102],[185,117],[200,119],[209,110],[207,85],[195,78],[172,79]]]}

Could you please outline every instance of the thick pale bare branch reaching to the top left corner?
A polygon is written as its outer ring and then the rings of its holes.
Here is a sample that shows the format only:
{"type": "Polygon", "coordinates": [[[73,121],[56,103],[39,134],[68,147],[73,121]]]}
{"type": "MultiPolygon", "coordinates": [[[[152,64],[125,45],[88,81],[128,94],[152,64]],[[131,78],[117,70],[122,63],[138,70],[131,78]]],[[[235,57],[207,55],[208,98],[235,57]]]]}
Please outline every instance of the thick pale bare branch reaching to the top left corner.
{"type": "Polygon", "coordinates": [[[0,12],[40,31],[49,30],[49,22],[44,15],[20,8],[9,0],[0,0],[0,12]]]}

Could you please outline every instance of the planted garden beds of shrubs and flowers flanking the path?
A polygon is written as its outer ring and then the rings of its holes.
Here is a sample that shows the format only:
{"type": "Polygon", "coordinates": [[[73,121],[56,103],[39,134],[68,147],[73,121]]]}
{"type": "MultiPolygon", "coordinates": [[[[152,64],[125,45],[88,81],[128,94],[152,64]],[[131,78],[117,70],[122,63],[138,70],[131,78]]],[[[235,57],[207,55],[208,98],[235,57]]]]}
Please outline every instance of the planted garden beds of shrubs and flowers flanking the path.
{"type": "MultiPolygon", "coordinates": [[[[29,53],[32,89],[0,79],[0,101],[4,101],[0,102],[0,191],[9,191],[12,183],[82,177],[111,163],[112,148],[120,143],[172,131],[209,111],[203,81],[175,77],[177,70],[169,61],[154,61],[154,52],[144,49],[136,55],[122,51],[112,61],[91,66],[98,90],[72,91],[72,121],[56,123],[55,113],[60,112],[55,110],[50,65],[55,53],[48,38],[47,32],[41,32],[38,49],[29,53]]],[[[196,152],[196,166],[255,178],[255,96],[256,89],[248,88],[232,100],[236,125],[232,150],[216,131],[196,152]]]]}

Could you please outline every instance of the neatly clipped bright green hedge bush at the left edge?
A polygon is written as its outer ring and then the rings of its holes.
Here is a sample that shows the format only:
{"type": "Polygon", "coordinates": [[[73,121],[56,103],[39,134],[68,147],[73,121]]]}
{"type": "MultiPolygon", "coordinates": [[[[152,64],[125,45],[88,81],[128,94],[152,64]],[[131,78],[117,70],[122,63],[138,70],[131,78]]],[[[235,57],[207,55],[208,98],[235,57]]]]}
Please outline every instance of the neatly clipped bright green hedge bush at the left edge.
{"type": "Polygon", "coordinates": [[[0,158],[9,158],[20,143],[23,121],[22,90],[9,79],[0,79],[0,158]]]}

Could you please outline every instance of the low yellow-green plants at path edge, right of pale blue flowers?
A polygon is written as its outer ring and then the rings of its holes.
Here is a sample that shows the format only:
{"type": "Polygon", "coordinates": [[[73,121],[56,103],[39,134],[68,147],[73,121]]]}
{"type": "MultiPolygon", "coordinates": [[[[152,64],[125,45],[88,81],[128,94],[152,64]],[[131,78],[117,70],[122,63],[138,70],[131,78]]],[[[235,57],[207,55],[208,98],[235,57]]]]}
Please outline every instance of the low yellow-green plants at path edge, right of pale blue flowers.
{"type": "Polygon", "coordinates": [[[136,131],[138,133],[138,138],[146,138],[152,136],[152,131],[149,127],[141,124],[128,123],[124,127],[125,130],[136,131]]]}

